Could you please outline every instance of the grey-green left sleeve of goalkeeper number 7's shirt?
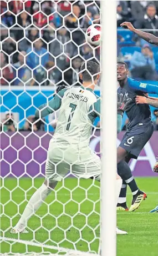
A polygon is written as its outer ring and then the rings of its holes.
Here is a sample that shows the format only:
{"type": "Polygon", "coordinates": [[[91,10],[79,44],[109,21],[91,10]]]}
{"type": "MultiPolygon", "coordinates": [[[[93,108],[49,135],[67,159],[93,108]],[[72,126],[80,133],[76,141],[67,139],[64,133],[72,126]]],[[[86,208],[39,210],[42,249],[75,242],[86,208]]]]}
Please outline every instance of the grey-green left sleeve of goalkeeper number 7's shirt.
{"type": "Polygon", "coordinates": [[[51,114],[54,111],[57,111],[62,104],[62,98],[64,96],[65,91],[67,91],[67,89],[62,89],[61,91],[58,92],[58,94],[54,96],[53,99],[51,99],[51,101],[48,102],[48,104],[44,103],[40,105],[39,108],[35,111],[35,117],[43,118],[45,116],[48,116],[48,114],[51,114]]]}

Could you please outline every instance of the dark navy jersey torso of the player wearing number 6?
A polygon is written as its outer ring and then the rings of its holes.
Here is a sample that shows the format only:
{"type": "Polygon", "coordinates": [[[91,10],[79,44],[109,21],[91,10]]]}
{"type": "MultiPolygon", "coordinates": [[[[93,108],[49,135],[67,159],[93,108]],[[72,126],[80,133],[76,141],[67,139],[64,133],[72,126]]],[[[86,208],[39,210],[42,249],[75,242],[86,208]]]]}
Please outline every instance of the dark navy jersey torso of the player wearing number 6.
{"type": "Polygon", "coordinates": [[[150,107],[147,104],[136,104],[135,98],[137,95],[144,96],[144,93],[141,91],[136,91],[129,87],[128,82],[125,83],[124,87],[118,88],[118,93],[128,93],[128,97],[132,101],[126,107],[126,114],[129,118],[128,129],[134,128],[137,124],[147,124],[151,122],[151,112],[150,107]]]}

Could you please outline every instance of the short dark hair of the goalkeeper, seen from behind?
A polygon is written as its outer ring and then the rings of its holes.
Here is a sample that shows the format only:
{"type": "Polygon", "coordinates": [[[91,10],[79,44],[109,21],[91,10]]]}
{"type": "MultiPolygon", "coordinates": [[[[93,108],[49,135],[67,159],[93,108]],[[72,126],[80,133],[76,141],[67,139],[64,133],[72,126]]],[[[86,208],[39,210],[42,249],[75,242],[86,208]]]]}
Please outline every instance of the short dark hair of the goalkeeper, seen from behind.
{"type": "Polygon", "coordinates": [[[84,62],[81,65],[80,72],[83,76],[83,81],[94,81],[100,71],[99,64],[94,61],[84,62]]]}

